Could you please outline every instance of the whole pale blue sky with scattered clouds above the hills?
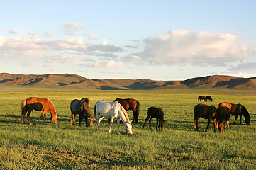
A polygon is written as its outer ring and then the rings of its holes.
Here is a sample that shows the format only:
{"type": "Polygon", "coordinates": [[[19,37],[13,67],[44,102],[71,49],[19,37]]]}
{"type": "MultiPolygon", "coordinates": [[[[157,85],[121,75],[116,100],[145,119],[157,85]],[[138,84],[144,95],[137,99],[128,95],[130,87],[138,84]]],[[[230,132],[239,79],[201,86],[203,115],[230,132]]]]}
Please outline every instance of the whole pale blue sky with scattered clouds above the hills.
{"type": "Polygon", "coordinates": [[[256,77],[256,1],[1,1],[0,72],[256,77]]]}

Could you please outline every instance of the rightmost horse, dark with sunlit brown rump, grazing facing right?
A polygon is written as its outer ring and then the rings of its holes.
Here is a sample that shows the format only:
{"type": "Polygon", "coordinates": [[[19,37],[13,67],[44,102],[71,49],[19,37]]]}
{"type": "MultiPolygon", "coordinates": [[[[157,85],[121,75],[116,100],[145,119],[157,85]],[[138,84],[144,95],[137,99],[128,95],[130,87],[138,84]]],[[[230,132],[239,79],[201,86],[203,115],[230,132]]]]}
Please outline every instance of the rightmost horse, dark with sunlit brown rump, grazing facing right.
{"type": "MultiPolygon", "coordinates": [[[[224,102],[224,103],[226,103],[226,105],[229,106],[230,114],[235,115],[235,121],[239,115],[240,116],[240,125],[242,125],[242,115],[243,115],[245,117],[246,125],[250,125],[250,114],[248,113],[245,106],[243,106],[241,104],[233,104],[233,103],[229,103],[229,102],[224,102]]],[[[233,125],[235,125],[235,121],[234,121],[233,125]]],[[[229,118],[228,118],[228,120],[226,120],[225,124],[228,125],[228,127],[229,127],[229,118]]]]}

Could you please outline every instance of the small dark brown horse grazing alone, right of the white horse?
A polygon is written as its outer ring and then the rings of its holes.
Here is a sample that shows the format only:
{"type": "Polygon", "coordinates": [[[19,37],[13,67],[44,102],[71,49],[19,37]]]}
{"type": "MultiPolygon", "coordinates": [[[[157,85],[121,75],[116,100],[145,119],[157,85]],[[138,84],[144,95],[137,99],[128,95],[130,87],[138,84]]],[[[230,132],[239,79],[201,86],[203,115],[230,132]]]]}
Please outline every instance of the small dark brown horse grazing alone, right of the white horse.
{"type": "Polygon", "coordinates": [[[155,108],[155,107],[148,108],[147,118],[145,119],[143,129],[145,128],[145,124],[147,123],[148,119],[150,119],[150,129],[151,129],[151,121],[153,118],[157,119],[156,129],[160,130],[160,125],[161,125],[161,130],[164,130],[165,129],[164,112],[162,111],[162,108],[155,108]]]}

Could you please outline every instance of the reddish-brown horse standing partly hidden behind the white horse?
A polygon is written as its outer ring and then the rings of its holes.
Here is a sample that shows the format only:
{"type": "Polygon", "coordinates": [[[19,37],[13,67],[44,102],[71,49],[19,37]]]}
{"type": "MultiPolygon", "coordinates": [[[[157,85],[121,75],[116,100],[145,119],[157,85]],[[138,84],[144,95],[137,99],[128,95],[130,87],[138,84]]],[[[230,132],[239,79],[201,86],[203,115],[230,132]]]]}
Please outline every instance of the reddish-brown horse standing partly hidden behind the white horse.
{"type": "Polygon", "coordinates": [[[123,106],[123,108],[126,109],[126,111],[132,110],[133,111],[132,123],[134,121],[135,121],[135,123],[138,123],[138,117],[139,117],[139,113],[140,113],[139,101],[137,101],[133,98],[126,98],[126,99],[116,98],[116,100],[114,100],[114,101],[118,101],[118,103],[120,103],[121,106],[123,106]]]}

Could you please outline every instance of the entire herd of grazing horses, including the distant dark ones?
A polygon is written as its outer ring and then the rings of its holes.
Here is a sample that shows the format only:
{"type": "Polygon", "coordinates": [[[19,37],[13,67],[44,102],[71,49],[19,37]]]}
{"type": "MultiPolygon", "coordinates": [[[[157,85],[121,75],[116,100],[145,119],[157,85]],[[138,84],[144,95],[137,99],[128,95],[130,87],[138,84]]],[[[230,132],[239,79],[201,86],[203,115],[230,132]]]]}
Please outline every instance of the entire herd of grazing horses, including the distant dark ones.
{"type": "MultiPolygon", "coordinates": [[[[210,100],[213,101],[211,96],[199,96],[198,101],[210,100]]],[[[132,132],[132,123],[138,123],[138,116],[140,113],[140,103],[139,101],[133,98],[116,98],[116,100],[106,101],[101,100],[96,102],[94,106],[94,115],[90,110],[91,102],[89,98],[82,98],[81,100],[74,99],[70,103],[70,111],[71,111],[71,120],[70,125],[75,126],[75,120],[77,114],[79,115],[79,126],[81,126],[82,120],[85,121],[87,127],[93,127],[93,122],[96,120],[96,129],[99,130],[99,124],[103,118],[108,118],[110,121],[110,127],[108,132],[111,133],[111,126],[113,125],[113,119],[117,119],[117,132],[119,132],[120,122],[123,122],[124,130],[128,132],[128,134],[133,134],[132,132]],[[127,111],[133,111],[133,120],[130,121],[128,118],[127,111]]],[[[28,124],[30,125],[30,113],[35,111],[43,111],[41,114],[38,123],[44,116],[47,111],[51,113],[52,123],[57,123],[57,113],[54,104],[50,101],[49,98],[37,98],[30,97],[23,100],[21,103],[21,124],[24,122],[24,117],[27,113],[28,124]]],[[[208,130],[208,126],[213,119],[214,131],[219,129],[221,132],[223,131],[224,123],[225,127],[229,127],[229,118],[230,115],[235,115],[235,120],[240,115],[240,124],[242,123],[242,115],[245,117],[245,123],[250,125],[250,115],[245,108],[240,104],[231,104],[228,102],[221,102],[218,105],[218,108],[214,106],[208,106],[205,104],[198,104],[194,107],[194,128],[198,130],[199,119],[204,118],[208,119],[208,124],[206,126],[206,132],[208,130]]],[[[162,108],[150,107],[147,111],[147,118],[145,118],[145,122],[143,125],[143,129],[145,128],[145,124],[149,120],[149,126],[151,129],[152,119],[156,118],[157,125],[156,130],[164,130],[165,129],[165,120],[164,120],[164,112],[162,108]]],[[[233,123],[235,124],[235,122],[233,123]]]]}

